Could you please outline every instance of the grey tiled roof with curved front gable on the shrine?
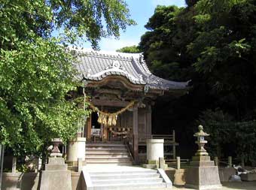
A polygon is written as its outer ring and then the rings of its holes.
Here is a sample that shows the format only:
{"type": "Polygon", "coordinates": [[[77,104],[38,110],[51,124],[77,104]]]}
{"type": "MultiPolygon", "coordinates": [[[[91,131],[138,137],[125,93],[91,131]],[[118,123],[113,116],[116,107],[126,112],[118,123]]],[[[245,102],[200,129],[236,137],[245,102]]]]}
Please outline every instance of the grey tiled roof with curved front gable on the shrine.
{"type": "Polygon", "coordinates": [[[126,77],[130,83],[149,89],[187,89],[188,82],[164,80],[149,71],[142,54],[105,53],[94,50],[76,50],[75,63],[80,80],[99,81],[111,75],[126,77]]]}

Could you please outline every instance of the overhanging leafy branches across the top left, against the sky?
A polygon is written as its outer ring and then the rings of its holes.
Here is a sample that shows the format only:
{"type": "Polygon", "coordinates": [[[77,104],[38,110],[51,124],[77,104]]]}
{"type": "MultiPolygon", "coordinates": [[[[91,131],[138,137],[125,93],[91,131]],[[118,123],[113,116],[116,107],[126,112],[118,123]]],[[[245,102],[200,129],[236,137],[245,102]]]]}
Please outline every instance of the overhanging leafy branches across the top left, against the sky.
{"type": "Polygon", "coordinates": [[[63,31],[63,43],[74,44],[80,38],[98,48],[100,38],[111,35],[118,38],[120,29],[135,24],[130,20],[123,0],[0,2],[1,46],[11,45],[19,38],[28,38],[33,34],[49,38],[54,29],[59,29],[63,31]]]}

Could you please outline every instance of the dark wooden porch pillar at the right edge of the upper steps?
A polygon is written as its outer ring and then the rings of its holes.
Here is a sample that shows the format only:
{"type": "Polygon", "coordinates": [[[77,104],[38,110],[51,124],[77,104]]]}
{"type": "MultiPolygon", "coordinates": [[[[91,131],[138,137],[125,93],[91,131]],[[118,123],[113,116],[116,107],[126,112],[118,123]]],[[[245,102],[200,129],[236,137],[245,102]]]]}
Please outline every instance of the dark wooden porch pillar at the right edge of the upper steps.
{"type": "Polygon", "coordinates": [[[133,156],[135,164],[139,161],[139,137],[138,137],[138,106],[133,107],[133,156]]]}

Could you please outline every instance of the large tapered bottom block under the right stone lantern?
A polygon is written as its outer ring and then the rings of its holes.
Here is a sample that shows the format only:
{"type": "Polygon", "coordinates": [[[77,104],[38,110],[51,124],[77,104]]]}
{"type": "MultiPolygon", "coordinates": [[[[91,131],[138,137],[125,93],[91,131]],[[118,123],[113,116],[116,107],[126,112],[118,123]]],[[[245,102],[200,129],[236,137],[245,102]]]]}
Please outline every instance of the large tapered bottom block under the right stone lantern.
{"type": "Polygon", "coordinates": [[[222,187],[217,166],[190,167],[187,169],[185,181],[187,188],[213,190],[222,187]]]}

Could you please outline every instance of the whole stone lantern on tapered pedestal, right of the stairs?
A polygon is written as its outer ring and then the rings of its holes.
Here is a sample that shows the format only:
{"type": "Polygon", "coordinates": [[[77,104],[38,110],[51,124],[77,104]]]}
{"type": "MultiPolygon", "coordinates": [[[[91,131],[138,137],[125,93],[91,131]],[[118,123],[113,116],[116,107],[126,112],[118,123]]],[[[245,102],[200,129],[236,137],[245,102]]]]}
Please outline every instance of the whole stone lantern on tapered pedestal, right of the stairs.
{"type": "Polygon", "coordinates": [[[190,167],[186,173],[186,184],[188,188],[196,189],[216,189],[221,188],[218,166],[211,161],[209,154],[204,149],[209,134],[203,131],[203,126],[198,126],[199,131],[194,134],[197,137],[198,150],[190,161],[190,167]]]}

